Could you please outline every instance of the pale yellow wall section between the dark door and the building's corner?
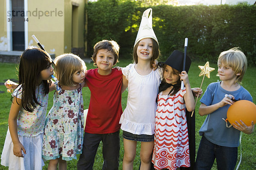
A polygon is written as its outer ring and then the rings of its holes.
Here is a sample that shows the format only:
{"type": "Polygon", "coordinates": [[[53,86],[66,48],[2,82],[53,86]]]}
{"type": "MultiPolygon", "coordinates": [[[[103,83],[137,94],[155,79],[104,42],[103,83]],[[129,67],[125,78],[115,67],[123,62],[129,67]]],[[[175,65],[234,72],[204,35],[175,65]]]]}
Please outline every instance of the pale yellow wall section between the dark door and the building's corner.
{"type": "Polygon", "coordinates": [[[64,3],[60,0],[44,0],[44,3],[29,0],[28,11],[31,12],[31,16],[28,16],[28,44],[37,45],[31,37],[35,34],[48,53],[56,56],[63,54],[64,3]]]}

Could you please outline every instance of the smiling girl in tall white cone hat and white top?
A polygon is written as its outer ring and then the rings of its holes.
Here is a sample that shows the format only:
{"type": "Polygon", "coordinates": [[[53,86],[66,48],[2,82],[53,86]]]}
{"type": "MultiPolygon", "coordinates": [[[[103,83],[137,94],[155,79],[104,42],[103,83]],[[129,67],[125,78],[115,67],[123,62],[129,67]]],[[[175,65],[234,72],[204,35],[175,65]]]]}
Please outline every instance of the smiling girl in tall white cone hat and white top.
{"type": "Polygon", "coordinates": [[[152,9],[143,13],[134,44],[134,64],[122,69],[123,85],[128,85],[127,106],[121,116],[124,140],[123,170],[133,170],[137,142],[141,142],[141,169],[151,167],[154,147],[156,98],[161,82],[160,70],[151,67],[160,55],[157,37],[152,29],[152,9]]]}

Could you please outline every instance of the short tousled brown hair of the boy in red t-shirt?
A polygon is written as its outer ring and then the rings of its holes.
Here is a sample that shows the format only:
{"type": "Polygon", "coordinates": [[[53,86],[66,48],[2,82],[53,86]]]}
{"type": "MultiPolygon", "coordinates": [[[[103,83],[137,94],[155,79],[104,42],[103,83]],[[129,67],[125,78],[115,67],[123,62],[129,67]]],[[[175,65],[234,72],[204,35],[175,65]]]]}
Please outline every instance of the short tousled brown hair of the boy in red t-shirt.
{"type": "Polygon", "coordinates": [[[119,58],[119,45],[117,44],[117,42],[113,41],[113,40],[102,40],[97,42],[94,47],[93,47],[93,65],[96,65],[96,55],[98,53],[99,50],[107,50],[107,51],[111,51],[113,53],[114,56],[114,63],[113,65],[116,65],[119,58]]]}

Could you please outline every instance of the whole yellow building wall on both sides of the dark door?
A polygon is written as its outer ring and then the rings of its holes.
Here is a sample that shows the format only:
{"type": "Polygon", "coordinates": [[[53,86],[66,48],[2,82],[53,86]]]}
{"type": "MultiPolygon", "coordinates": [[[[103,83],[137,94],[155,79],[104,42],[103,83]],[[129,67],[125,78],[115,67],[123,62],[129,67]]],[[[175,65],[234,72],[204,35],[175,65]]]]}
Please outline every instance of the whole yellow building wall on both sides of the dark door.
{"type": "MultiPolygon", "coordinates": [[[[26,1],[26,0],[25,0],[26,1]]],[[[6,0],[0,0],[6,9],[6,0]]],[[[38,46],[34,34],[48,53],[56,56],[84,47],[85,0],[27,0],[28,45],[38,46]],[[74,6],[74,7],[73,7],[74,6]],[[58,13],[58,15],[57,15],[58,13]]],[[[6,10],[0,10],[0,51],[7,51],[6,10]]]]}

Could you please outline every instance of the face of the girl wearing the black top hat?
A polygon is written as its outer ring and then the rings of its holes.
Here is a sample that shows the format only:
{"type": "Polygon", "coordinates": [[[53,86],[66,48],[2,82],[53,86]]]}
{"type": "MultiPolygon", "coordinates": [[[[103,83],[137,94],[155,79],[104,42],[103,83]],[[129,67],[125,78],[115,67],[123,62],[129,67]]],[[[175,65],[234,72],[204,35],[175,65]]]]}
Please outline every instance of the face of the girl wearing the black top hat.
{"type": "Polygon", "coordinates": [[[177,81],[180,79],[179,72],[169,65],[166,65],[166,67],[163,70],[163,77],[168,84],[177,84],[177,81]]]}

